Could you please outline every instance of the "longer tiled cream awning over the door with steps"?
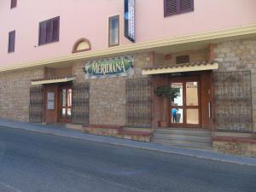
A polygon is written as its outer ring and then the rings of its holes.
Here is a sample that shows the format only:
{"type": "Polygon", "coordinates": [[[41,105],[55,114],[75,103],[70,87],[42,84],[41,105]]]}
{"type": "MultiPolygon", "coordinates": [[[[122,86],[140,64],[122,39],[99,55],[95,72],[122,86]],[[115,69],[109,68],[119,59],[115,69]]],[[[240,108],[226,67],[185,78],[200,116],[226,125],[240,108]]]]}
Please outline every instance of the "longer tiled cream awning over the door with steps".
{"type": "Polygon", "coordinates": [[[191,62],[168,66],[157,66],[143,68],[143,75],[162,73],[182,73],[218,69],[218,62],[191,62]]]}

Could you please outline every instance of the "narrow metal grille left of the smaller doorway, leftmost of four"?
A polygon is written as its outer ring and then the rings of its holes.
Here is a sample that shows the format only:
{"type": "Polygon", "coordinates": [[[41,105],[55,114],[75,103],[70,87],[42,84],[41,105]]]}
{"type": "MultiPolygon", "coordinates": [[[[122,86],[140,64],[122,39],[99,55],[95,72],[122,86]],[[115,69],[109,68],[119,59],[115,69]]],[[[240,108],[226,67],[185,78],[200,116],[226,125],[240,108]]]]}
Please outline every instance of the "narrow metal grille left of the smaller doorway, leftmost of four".
{"type": "Polygon", "coordinates": [[[30,88],[29,122],[42,123],[43,114],[43,87],[30,88]]]}

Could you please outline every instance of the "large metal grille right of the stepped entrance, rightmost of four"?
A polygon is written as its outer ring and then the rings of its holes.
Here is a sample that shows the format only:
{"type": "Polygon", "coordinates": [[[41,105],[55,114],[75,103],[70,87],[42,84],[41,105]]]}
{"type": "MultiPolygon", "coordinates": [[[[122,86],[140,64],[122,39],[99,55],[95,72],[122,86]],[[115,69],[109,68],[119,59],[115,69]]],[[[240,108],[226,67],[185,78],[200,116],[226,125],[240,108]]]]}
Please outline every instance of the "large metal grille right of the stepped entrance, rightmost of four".
{"type": "Polygon", "coordinates": [[[251,73],[214,73],[215,125],[224,131],[252,131],[251,73]]]}

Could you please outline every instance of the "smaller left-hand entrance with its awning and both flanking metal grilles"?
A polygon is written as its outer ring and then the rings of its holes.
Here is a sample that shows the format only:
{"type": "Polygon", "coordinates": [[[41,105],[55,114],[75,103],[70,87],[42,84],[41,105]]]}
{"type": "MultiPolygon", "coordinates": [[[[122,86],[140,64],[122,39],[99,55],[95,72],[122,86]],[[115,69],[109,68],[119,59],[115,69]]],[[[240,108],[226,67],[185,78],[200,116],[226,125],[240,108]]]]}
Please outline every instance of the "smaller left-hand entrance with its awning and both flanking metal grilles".
{"type": "Polygon", "coordinates": [[[30,122],[88,124],[90,84],[76,83],[74,80],[73,76],[33,80],[30,122]]]}

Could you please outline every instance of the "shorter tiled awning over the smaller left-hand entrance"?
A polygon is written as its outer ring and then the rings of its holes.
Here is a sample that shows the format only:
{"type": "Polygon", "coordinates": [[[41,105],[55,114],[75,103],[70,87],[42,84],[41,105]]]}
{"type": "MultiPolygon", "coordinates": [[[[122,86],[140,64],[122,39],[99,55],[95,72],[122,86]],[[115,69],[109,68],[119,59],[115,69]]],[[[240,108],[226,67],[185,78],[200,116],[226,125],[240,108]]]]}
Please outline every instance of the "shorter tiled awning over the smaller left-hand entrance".
{"type": "Polygon", "coordinates": [[[64,76],[64,77],[55,77],[55,78],[49,78],[49,79],[34,79],[32,80],[31,84],[57,84],[57,83],[63,83],[63,82],[69,82],[75,80],[75,76],[64,76]]]}

